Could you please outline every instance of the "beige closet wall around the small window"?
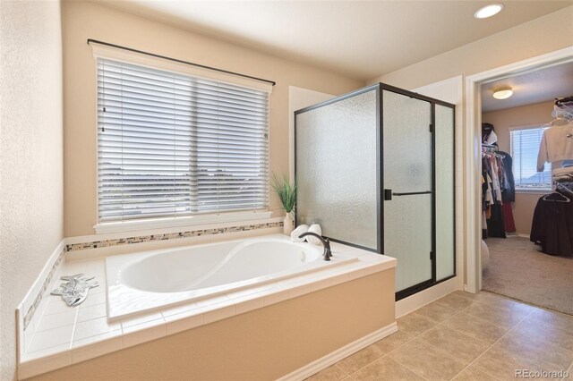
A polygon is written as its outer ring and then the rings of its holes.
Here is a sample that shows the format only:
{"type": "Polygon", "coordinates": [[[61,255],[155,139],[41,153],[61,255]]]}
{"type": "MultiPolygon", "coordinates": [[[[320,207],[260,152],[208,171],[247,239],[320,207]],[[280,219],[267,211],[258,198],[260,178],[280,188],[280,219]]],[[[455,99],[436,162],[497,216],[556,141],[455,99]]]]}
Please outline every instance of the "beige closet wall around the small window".
{"type": "MultiPolygon", "coordinates": [[[[509,153],[509,127],[551,122],[553,119],[552,111],[553,102],[549,101],[484,113],[482,114],[482,121],[483,123],[493,124],[495,133],[498,136],[500,150],[509,153]]],[[[517,233],[529,235],[531,232],[535,205],[540,196],[541,194],[539,193],[516,193],[516,202],[513,204],[512,209],[517,233]]]]}

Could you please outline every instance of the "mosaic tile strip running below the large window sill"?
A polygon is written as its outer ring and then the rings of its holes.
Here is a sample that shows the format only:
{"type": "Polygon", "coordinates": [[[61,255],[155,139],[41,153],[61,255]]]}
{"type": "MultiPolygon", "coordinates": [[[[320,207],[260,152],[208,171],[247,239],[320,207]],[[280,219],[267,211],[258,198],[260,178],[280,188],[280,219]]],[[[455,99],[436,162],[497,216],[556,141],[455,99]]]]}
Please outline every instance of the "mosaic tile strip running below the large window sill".
{"type": "Polygon", "coordinates": [[[241,226],[221,227],[221,228],[215,228],[215,229],[192,230],[192,231],[180,232],[180,233],[140,235],[140,236],[136,236],[136,237],[118,238],[115,240],[73,243],[73,244],[65,245],[65,251],[97,249],[97,248],[105,248],[105,247],[110,247],[110,246],[129,245],[132,243],[141,243],[141,242],[150,242],[150,241],[175,240],[178,238],[199,237],[202,235],[213,235],[213,234],[234,233],[234,232],[247,232],[247,231],[251,231],[251,230],[269,229],[269,228],[282,227],[282,226],[283,226],[282,222],[274,222],[274,223],[265,223],[265,224],[245,224],[245,225],[241,225],[241,226]]]}

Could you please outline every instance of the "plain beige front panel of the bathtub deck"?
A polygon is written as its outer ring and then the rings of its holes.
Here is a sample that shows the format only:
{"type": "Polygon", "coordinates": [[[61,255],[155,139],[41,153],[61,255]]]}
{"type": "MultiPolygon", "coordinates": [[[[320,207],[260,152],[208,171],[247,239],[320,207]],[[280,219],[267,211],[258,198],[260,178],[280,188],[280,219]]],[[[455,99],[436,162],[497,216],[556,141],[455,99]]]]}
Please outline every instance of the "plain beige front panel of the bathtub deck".
{"type": "Polygon", "coordinates": [[[394,269],[35,377],[271,380],[394,322],[394,269]]]}

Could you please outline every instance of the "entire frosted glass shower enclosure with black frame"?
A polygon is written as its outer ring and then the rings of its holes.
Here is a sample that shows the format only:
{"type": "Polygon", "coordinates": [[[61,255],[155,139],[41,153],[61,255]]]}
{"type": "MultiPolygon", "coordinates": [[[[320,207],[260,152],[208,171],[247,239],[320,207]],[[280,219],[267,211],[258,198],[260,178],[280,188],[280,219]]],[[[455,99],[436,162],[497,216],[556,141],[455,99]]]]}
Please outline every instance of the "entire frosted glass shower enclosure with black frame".
{"type": "Polygon", "coordinates": [[[397,258],[397,300],[455,276],[454,107],[378,83],[295,112],[296,223],[397,258]]]}

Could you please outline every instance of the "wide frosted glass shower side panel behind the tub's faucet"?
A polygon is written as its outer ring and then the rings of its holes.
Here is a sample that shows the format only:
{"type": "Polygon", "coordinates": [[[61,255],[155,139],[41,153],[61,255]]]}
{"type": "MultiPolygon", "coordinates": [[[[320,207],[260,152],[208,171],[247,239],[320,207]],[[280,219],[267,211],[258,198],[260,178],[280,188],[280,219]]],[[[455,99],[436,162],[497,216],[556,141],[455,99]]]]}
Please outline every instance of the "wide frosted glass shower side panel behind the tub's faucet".
{"type": "Polygon", "coordinates": [[[378,235],[378,97],[367,88],[295,112],[297,224],[380,250],[378,235]]]}

